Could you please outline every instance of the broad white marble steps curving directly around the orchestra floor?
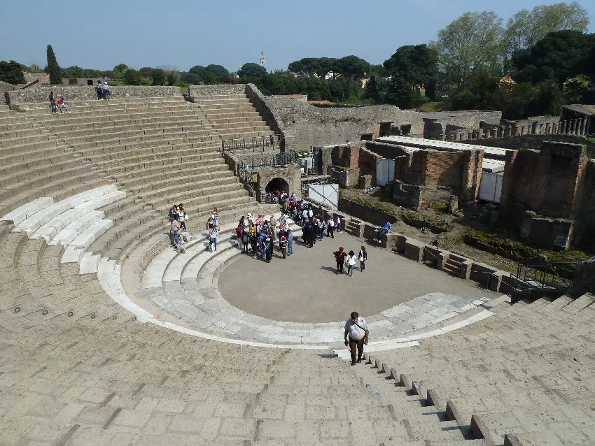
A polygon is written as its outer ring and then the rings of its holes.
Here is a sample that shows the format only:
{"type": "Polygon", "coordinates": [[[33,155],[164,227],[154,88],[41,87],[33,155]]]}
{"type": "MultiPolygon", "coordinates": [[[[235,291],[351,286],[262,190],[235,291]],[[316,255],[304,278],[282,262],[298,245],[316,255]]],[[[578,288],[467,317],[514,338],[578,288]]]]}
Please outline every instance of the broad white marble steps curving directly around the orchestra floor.
{"type": "MultiPolygon", "coordinates": [[[[223,226],[225,231],[234,228],[235,224],[223,226]]],[[[197,237],[187,247],[186,254],[177,254],[172,250],[158,254],[144,271],[137,296],[151,300],[167,314],[179,319],[184,326],[204,329],[215,336],[230,336],[259,343],[340,343],[344,321],[324,324],[279,322],[250,315],[231,305],[218,290],[218,273],[240,251],[235,249],[236,241],[232,240],[232,233],[225,233],[219,238],[220,248],[216,253],[205,250],[208,246],[206,240],[207,234],[197,237]]],[[[470,302],[458,296],[432,293],[395,305],[379,315],[372,315],[371,319],[376,320],[370,323],[370,328],[380,336],[377,337],[378,341],[370,344],[371,351],[402,347],[403,343],[410,345],[415,339],[435,336],[491,316],[491,312],[479,308],[483,304],[484,300],[470,302]],[[419,315],[414,328],[433,327],[430,335],[426,334],[427,331],[413,331],[405,333],[407,336],[394,336],[399,331],[391,322],[391,317],[411,310],[407,304],[416,308],[427,306],[428,314],[419,315]],[[440,305],[444,311],[441,311],[440,305]],[[465,314],[465,317],[461,317],[461,314],[465,314]],[[456,322],[445,322],[454,317],[458,317],[456,322]]]]}

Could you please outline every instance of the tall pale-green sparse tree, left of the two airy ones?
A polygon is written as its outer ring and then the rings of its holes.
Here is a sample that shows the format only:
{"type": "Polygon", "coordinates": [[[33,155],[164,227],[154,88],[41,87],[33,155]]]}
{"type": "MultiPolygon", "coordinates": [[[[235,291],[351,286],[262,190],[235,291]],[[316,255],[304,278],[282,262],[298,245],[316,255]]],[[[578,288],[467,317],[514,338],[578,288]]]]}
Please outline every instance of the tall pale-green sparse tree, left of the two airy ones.
{"type": "Polygon", "coordinates": [[[472,69],[484,66],[493,75],[500,72],[503,59],[502,19],[493,12],[464,13],[430,43],[438,62],[454,85],[464,88],[472,69]]]}

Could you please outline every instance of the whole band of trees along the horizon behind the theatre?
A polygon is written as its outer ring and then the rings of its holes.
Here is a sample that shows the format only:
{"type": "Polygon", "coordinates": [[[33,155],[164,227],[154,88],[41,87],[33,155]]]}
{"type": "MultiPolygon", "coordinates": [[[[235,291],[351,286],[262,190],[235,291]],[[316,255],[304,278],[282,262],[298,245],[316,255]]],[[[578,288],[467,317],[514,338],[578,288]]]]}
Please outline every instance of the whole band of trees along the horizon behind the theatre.
{"type": "MultiPolygon", "coordinates": [[[[51,45],[52,83],[62,78],[109,75],[123,85],[216,84],[221,78],[254,82],[265,94],[307,94],[346,104],[388,103],[428,110],[503,110],[510,119],[557,115],[562,103],[595,101],[595,34],[586,34],[587,12],[576,1],[521,10],[504,24],[493,12],[464,13],[428,44],[398,48],[383,64],[360,57],[305,57],[286,71],[248,63],[237,73],[216,64],[188,71],[119,64],[109,71],[58,66],[51,45]],[[141,73],[151,73],[151,79],[141,73]],[[429,103],[428,103],[429,102],[429,103]],[[428,103],[424,106],[424,103],[428,103]]],[[[0,62],[0,80],[23,83],[22,72],[41,71],[0,62]]]]}

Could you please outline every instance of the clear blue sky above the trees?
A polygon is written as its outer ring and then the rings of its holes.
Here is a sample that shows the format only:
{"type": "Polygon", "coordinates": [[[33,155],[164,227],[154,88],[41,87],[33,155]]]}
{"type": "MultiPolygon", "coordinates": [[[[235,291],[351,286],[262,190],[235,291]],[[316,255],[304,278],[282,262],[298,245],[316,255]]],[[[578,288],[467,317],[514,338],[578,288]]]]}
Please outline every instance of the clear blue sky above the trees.
{"type": "MultiPolygon", "coordinates": [[[[477,0],[0,0],[0,60],[45,66],[52,45],[60,66],[113,69],[124,63],[221,64],[237,71],[258,62],[287,69],[302,57],[356,55],[381,64],[402,45],[427,43],[466,11],[494,10],[507,20],[522,8],[556,1],[477,0]]],[[[595,30],[595,1],[580,0],[595,30]]]]}

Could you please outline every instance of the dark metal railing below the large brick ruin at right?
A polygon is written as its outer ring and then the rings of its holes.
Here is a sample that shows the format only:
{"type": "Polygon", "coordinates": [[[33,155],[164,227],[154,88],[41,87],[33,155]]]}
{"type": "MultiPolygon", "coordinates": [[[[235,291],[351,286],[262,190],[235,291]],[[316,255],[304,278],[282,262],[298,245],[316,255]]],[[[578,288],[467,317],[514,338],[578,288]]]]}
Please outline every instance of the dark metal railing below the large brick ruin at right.
{"type": "Polygon", "coordinates": [[[517,265],[516,279],[535,288],[570,288],[577,262],[528,263],[517,265]]]}

